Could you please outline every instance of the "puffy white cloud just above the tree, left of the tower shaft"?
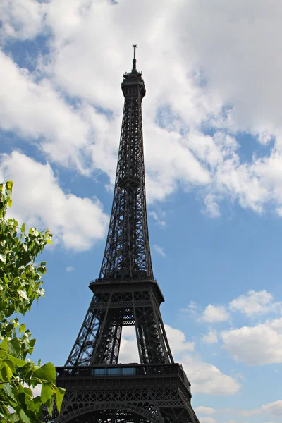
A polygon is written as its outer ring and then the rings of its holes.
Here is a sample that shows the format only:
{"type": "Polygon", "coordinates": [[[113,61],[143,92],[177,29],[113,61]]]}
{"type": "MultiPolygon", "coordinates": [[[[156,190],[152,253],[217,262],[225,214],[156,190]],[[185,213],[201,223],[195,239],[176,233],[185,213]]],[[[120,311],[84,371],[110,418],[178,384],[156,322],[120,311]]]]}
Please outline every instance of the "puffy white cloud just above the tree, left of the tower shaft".
{"type": "Polygon", "coordinates": [[[30,226],[49,228],[66,248],[88,250],[104,238],[108,216],[97,199],[65,194],[49,164],[19,152],[3,154],[0,179],[12,179],[13,216],[30,226]]]}

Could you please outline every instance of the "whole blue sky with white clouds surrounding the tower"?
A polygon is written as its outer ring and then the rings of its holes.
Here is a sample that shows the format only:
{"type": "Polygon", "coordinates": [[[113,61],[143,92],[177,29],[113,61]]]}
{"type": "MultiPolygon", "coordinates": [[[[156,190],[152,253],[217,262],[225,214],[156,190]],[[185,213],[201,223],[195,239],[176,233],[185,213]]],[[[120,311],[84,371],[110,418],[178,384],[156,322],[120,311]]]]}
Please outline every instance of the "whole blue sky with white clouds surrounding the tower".
{"type": "MultiPolygon", "coordinates": [[[[49,228],[34,358],[63,365],[102,263],[137,43],[161,312],[201,423],[282,419],[281,1],[2,0],[0,177],[49,228]]],[[[121,361],[135,361],[123,333],[121,361]]]]}

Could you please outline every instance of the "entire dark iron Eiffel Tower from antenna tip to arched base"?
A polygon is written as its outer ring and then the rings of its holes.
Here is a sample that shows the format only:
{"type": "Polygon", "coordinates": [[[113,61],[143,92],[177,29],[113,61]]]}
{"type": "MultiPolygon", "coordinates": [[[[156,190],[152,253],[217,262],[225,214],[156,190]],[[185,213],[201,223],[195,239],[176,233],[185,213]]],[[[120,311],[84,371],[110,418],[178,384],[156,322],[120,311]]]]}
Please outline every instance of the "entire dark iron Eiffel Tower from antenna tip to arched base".
{"type": "Polygon", "coordinates": [[[57,385],[59,423],[200,423],[185,372],[173,361],[152,270],[145,196],[142,99],[136,69],[123,75],[121,141],[109,232],[93,298],[57,385]],[[140,364],[118,364],[123,326],[135,326],[140,364]]]}

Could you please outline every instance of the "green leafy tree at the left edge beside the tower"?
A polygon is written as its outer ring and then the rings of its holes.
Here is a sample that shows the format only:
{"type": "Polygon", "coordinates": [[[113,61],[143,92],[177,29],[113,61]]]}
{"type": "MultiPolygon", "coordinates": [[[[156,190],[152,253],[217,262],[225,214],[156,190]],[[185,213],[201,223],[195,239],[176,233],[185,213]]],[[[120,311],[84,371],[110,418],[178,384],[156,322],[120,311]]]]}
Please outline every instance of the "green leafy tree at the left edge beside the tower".
{"type": "Polygon", "coordinates": [[[10,180],[0,184],[0,422],[30,423],[40,422],[42,405],[51,415],[55,401],[60,411],[64,390],[55,385],[53,364],[41,366],[28,358],[35,338],[20,321],[44,295],[46,262],[35,259],[52,235],[35,228],[25,233],[25,224],[19,228],[15,219],[6,218],[12,188],[10,180]],[[41,386],[39,396],[33,396],[36,386],[41,386]]]}

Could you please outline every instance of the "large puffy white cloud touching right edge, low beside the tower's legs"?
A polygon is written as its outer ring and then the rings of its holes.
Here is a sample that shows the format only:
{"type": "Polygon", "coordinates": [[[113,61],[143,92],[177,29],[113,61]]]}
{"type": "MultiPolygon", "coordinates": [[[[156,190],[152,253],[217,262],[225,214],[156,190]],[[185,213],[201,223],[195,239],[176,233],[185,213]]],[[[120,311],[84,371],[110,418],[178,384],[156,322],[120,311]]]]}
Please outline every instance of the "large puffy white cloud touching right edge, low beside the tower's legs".
{"type": "Polygon", "coordinates": [[[221,332],[223,348],[249,365],[282,362],[282,318],[221,332]]]}

